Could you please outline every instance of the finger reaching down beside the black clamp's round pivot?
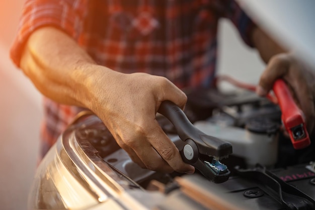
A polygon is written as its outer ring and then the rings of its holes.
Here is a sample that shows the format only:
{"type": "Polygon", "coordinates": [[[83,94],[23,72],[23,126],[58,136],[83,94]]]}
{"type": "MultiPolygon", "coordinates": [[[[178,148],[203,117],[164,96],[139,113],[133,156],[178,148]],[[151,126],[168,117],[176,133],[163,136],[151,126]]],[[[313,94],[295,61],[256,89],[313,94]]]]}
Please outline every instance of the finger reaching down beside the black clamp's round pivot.
{"type": "Polygon", "coordinates": [[[152,130],[149,143],[160,154],[160,156],[177,172],[193,173],[195,168],[184,163],[178,149],[171,139],[164,133],[159,123],[155,120],[156,129],[152,130]]]}

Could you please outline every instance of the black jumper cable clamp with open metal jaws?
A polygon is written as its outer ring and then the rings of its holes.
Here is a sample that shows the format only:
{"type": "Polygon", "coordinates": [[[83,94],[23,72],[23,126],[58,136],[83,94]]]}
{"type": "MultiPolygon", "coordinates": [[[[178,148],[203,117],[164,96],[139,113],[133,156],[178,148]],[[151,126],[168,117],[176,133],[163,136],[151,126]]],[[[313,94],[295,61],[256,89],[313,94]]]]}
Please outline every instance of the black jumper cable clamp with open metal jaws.
{"type": "Polygon", "coordinates": [[[183,161],[215,183],[227,181],[230,171],[220,160],[232,153],[232,145],[197,129],[171,101],[163,101],[158,112],[173,123],[182,139],[176,147],[183,161]]]}

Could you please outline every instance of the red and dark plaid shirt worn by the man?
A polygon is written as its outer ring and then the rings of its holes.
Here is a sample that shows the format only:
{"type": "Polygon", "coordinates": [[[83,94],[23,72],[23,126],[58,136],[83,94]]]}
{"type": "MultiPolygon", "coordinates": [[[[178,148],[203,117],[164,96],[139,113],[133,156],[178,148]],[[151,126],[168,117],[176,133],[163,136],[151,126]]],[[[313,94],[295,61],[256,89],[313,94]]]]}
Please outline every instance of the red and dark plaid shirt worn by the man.
{"type": "MultiPolygon", "coordinates": [[[[19,66],[30,34],[50,25],[115,71],[164,76],[179,88],[209,87],[221,17],[251,46],[254,24],[232,0],[26,0],[11,58],[19,66]]],[[[44,107],[41,156],[81,110],[48,98],[44,107]]]]}

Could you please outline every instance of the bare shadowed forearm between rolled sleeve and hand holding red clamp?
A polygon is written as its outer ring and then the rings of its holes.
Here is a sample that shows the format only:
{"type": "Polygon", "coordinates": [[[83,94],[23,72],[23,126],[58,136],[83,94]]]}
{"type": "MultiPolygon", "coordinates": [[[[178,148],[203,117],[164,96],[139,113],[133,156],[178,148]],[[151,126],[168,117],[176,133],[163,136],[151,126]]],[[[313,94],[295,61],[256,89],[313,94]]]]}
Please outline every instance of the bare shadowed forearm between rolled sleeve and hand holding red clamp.
{"type": "Polygon", "coordinates": [[[287,49],[280,46],[276,41],[274,41],[270,36],[268,36],[259,27],[256,27],[252,32],[252,41],[254,46],[259,51],[261,58],[268,63],[270,58],[276,54],[286,52],[287,49]]]}

